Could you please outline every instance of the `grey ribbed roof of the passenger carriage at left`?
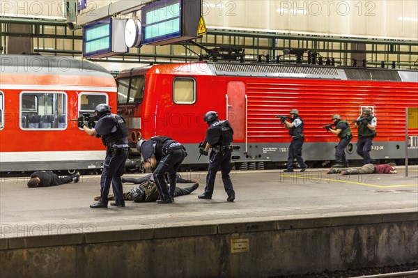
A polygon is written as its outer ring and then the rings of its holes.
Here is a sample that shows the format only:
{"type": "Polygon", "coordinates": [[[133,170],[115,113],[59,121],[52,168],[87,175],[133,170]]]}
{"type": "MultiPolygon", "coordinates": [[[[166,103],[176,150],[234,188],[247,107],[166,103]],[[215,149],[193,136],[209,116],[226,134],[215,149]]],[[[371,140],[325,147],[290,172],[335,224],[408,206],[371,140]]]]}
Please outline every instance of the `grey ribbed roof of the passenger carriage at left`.
{"type": "Polygon", "coordinates": [[[5,73],[31,72],[32,74],[110,75],[101,65],[68,56],[40,56],[1,54],[0,71],[5,73]]]}

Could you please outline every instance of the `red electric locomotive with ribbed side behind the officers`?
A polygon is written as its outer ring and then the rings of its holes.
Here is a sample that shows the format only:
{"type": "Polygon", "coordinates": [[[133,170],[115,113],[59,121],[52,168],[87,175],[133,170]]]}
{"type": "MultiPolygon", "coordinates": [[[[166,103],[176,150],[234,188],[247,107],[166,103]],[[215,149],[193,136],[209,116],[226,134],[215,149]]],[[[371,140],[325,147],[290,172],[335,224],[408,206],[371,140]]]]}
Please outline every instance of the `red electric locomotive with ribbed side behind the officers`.
{"type": "MultiPolygon", "coordinates": [[[[363,107],[378,119],[371,155],[378,160],[405,157],[405,107],[418,106],[418,71],[338,68],[263,63],[178,63],[123,70],[118,75],[118,113],[136,142],[157,134],[185,144],[185,163],[198,163],[197,143],[205,137],[203,115],[215,110],[234,129],[233,161],[285,162],[291,141],[276,115],[292,108],[304,118],[307,161],[334,160],[338,139],[321,128],[332,114],[353,121],[363,107]]],[[[355,153],[357,130],[346,149],[355,153]]],[[[410,130],[417,141],[418,130],[410,130]]],[[[417,146],[409,148],[417,158],[417,146]]],[[[207,162],[202,160],[199,162],[207,162]]]]}

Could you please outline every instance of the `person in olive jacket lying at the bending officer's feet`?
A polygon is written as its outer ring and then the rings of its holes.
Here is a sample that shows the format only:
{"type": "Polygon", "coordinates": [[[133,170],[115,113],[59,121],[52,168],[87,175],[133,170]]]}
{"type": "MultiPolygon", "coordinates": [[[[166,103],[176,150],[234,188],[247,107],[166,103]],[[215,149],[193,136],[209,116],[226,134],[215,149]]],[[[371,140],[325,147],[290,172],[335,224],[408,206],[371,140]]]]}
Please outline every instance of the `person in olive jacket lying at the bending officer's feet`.
{"type": "MultiPolygon", "coordinates": [[[[194,192],[194,190],[199,187],[199,183],[194,183],[192,187],[180,188],[176,187],[174,190],[174,196],[183,196],[194,192]]],[[[100,196],[95,196],[94,199],[97,201],[100,196]]],[[[113,194],[109,194],[109,200],[113,200],[113,194]]],[[[160,199],[160,194],[158,194],[157,185],[153,180],[145,180],[143,183],[138,185],[137,187],[132,187],[130,192],[123,193],[123,199],[125,201],[134,201],[136,203],[140,202],[155,202],[160,199]]]]}

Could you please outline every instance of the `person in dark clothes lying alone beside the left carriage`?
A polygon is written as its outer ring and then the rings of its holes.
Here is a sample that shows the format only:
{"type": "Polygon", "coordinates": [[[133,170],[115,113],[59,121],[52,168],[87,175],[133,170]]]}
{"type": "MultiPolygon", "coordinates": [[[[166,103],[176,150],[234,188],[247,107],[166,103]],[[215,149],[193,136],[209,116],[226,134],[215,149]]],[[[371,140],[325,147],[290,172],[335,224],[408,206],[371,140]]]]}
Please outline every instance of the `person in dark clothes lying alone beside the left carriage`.
{"type": "Polygon", "coordinates": [[[52,171],[36,171],[31,174],[31,179],[28,181],[28,187],[47,187],[71,182],[78,183],[79,179],[79,172],[74,175],[60,177],[55,173],[52,173],[52,171]]]}

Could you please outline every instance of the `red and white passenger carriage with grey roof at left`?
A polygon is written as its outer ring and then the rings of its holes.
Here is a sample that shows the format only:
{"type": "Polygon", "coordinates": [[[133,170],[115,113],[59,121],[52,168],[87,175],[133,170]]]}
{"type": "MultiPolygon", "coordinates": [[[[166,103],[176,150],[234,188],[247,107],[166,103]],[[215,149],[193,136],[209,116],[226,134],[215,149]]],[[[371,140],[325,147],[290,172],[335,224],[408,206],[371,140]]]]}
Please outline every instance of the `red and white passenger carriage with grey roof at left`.
{"type": "Polygon", "coordinates": [[[104,147],[77,127],[95,105],[117,105],[107,70],[67,57],[0,56],[0,171],[100,169],[104,147]]]}

